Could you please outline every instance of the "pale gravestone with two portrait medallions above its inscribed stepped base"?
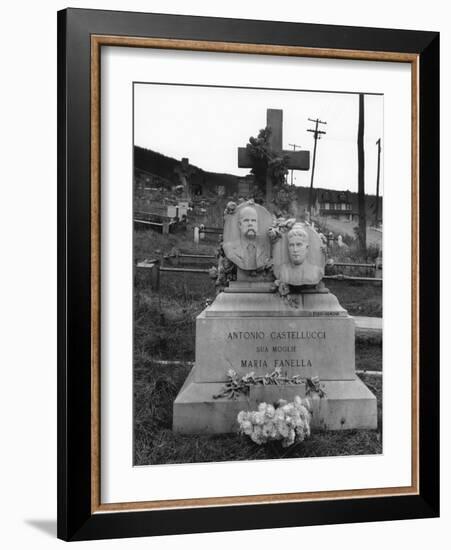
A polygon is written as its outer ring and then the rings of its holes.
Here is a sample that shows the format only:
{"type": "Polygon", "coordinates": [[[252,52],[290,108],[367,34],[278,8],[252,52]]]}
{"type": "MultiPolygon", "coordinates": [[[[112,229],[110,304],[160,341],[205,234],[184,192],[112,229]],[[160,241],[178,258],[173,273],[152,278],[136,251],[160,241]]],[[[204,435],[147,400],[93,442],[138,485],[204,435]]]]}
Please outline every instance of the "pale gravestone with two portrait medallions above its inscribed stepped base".
{"type": "Polygon", "coordinates": [[[305,384],[287,384],[251,386],[233,399],[217,397],[230,370],[242,377],[276,369],[288,379],[319,377],[325,394],[311,396],[313,429],[377,428],[376,398],[355,373],[354,319],[321,282],[323,242],[311,226],[291,220],[268,227],[268,219],[252,202],[228,205],[224,253],[237,266],[237,277],[196,319],[196,360],[174,402],[174,430],[235,432],[241,410],[305,395],[305,384]],[[249,228],[255,229],[252,239],[249,228]],[[258,260],[263,252],[249,251],[247,241],[257,237],[261,251],[271,250],[272,271],[271,262],[258,260]],[[295,237],[303,240],[300,251],[289,248],[295,237]]]}

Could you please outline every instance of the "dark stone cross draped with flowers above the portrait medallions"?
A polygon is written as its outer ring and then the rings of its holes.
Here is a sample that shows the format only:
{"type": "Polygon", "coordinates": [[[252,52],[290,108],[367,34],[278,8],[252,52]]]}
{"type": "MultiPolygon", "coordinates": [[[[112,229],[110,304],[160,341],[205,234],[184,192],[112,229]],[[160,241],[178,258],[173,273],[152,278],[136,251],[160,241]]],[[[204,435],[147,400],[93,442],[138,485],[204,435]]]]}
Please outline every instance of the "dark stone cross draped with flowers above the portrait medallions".
{"type": "MultiPolygon", "coordinates": [[[[283,111],[282,109],[266,110],[266,126],[271,128],[269,136],[270,150],[279,156],[288,157],[290,170],[308,170],[310,168],[310,151],[287,151],[282,149],[283,111]]],[[[238,148],[238,167],[253,168],[254,160],[246,147],[238,148]]],[[[272,181],[266,176],[266,203],[270,206],[272,201],[272,181]]]]}

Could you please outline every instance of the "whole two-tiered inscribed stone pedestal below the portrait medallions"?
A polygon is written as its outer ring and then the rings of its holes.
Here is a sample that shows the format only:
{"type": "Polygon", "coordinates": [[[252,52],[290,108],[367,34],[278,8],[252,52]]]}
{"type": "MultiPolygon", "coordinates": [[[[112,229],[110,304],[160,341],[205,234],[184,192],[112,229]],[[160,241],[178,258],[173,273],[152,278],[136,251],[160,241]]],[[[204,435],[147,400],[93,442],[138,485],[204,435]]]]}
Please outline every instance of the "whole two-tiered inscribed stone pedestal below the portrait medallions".
{"type": "Polygon", "coordinates": [[[221,393],[232,369],[239,377],[318,376],[325,397],[311,397],[313,430],[377,428],[376,397],[355,374],[354,319],[327,289],[307,289],[296,307],[265,281],[236,281],[196,320],[196,365],[174,402],[174,431],[233,433],[237,415],[259,403],[305,396],[304,384],[255,385],[237,399],[221,393]]]}

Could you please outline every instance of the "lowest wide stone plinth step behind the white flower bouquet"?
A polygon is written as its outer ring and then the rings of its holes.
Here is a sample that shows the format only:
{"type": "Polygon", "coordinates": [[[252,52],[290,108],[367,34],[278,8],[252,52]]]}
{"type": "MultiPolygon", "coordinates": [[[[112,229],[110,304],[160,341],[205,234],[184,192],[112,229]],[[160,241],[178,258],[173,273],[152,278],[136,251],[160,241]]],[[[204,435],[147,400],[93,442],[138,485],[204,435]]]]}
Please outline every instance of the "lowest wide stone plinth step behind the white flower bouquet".
{"type": "MultiPolygon", "coordinates": [[[[233,433],[238,430],[237,415],[241,410],[255,410],[262,401],[277,400],[278,392],[290,401],[305,395],[304,385],[256,386],[249,396],[237,399],[219,398],[222,382],[196,383],[195,369],[185,381],[174,401],[173,429],[183,434],[233,433]]],[[[313,408],[313,430],[376,429],[376,397],[359,379],[322,382],[326,397],[310,396],[313,408]]]]}

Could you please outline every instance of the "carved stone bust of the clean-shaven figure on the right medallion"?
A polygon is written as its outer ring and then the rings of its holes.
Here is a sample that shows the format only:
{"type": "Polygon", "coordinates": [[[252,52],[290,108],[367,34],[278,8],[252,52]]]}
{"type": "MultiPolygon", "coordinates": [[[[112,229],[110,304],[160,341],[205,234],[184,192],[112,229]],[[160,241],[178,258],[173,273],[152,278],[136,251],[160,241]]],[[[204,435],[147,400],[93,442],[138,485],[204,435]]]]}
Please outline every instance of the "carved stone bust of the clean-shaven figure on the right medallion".
{"type": "Polygon", "coordinates": [[[294,286],[316,285],[324,276],[320,266],[310,263],[309,235],[300,223],[293,225],[287,234],[289,262],[280,267],[280,280],[294,286]]]}

